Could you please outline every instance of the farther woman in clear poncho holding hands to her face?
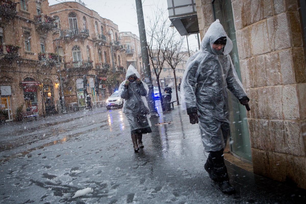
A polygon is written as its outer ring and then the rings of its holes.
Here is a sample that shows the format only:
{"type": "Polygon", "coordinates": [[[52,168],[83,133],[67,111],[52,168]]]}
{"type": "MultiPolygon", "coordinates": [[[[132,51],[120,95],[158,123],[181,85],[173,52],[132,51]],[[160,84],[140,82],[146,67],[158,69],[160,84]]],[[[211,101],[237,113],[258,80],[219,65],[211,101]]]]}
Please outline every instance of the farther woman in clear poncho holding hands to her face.
{"type": "Polygon", "coordinates": [[[149,119],[151,115],[145,98],[149,88],[139,77],[140,74],[130,65],[126,71],[125,81],[120,84],[118,90],[119,96],[123,98],[123,113],[129,121],[135,152],[144,147],[142,134],[152,132],[149,119]]]}

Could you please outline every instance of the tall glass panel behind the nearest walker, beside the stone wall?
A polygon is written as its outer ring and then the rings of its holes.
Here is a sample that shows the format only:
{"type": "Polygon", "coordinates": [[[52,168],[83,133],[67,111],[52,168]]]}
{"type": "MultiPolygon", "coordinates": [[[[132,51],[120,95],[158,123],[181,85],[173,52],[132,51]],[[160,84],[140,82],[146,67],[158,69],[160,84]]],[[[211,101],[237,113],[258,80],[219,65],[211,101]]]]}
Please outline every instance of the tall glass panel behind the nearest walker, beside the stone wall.
{"type": "MultiPolygon", "coordinates": [[[[231,0],[214,0],[212,2],[215,20],[219,19],[229,38],[233,41],[233,50],[230,56],[236,69],[239,80],[241,72],[239,65],[236,30],[234,26],[231,0]]],[[[252,162],[250,137],[246,109],[240,105],[237,98],[229,93],[230,112],[230,150],[240,159],[252,162]]]]}

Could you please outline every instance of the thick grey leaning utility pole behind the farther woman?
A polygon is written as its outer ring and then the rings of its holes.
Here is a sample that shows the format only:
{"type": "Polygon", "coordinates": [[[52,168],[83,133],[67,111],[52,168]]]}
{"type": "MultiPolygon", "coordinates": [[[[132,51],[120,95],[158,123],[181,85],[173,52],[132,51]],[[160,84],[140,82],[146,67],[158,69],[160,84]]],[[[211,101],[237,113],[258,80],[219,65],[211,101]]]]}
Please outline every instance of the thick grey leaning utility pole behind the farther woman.
{"type": "Polygon", "coordinates": [[[145,66],[144,67],[145,68],[144,69],[144,82],[149,87],[149,94],[147,96],[148,106],[151,112],[151,116],[159,117],[159,114],[155,107],[154,91],[153,91],[151,69],[150,69],[150,62],[149,62],[149,54],[148,54],[148,48],[147,48],[147,36],[146,36],[146,29],[144,27],[144,13],[142,11],[141,0],[136,0],[136,12],[137,12],[137,20],[138,20],[141,56],[142,56],[142,61],[145,66]]]}

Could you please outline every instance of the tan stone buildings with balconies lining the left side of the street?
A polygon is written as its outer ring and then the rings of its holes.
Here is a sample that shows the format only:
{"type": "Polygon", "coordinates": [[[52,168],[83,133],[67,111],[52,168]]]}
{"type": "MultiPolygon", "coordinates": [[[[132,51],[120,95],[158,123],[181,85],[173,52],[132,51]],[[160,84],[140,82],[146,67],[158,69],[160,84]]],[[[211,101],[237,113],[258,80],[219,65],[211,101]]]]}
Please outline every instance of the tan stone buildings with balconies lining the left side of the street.
{"type": "Polygon", "coordinates": [[[0,16],[1,119],[15,120],[18,107],[36,115],[61,112],[62,92],[67,109],[86,107],[83,75],[92,101],[108,98],[123,80],[118,25],[78,2],[1,0],[0,16]]]}

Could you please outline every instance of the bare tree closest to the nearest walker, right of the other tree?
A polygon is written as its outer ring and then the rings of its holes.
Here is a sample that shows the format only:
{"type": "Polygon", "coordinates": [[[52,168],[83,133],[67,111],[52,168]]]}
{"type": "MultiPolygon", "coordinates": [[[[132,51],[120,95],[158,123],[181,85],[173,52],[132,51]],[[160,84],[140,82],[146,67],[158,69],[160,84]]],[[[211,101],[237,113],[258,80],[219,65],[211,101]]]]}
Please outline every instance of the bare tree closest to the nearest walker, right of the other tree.
{"type": "Polygon", "coordinates": [[[174,74],[174,84],[175,84],[175,91],[176,91],[176,100],[177,105],[179,105],[178,101],[178,94],[177,94],[177,81],[176,81],[176,74],[175,68],[177,65],[181,64],[183,60],[187,57],[188,52],[182,51],[184,49],[184,37],[178,35],[178,33],[172,29],[172,32],[168,33],[167,43],[170,45],[167,47],[165,52],[165,60],[167,64],[171,67],[174,74]]]}

